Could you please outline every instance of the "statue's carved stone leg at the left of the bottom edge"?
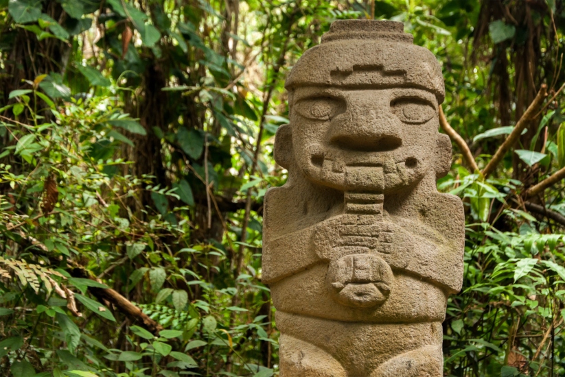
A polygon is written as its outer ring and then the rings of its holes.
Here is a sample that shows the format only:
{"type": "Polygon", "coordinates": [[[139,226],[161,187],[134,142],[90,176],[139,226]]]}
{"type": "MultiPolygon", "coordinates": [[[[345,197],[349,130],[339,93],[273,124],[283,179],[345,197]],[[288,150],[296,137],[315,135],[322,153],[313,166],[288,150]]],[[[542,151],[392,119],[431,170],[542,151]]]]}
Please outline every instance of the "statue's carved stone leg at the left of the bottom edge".
{"type": "Polygon", "coordinates": [[[312,343],[282,334],[279,344],[280,377],[347,377],[332,355],[312,343]]]}

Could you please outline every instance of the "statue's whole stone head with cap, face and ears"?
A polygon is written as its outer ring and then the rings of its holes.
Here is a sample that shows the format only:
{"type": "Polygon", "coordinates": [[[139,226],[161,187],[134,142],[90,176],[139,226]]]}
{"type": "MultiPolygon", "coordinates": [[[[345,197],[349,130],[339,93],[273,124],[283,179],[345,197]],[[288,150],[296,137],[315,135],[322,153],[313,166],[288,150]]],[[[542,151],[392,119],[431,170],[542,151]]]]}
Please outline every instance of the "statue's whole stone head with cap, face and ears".
{"type": "Polygon", "coordinates": [[[393,21],[336,21],[303,54],[286,81],[279,165],[321,186],[384,194],[447,173],[441,67],[403,30],[393,21]]]}

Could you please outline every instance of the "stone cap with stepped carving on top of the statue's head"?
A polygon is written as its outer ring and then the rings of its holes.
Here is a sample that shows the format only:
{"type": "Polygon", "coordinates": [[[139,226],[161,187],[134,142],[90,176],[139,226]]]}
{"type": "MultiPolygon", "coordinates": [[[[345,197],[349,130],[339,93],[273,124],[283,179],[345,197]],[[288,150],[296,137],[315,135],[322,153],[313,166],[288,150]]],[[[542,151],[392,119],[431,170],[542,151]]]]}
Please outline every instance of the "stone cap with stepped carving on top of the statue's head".
{"type": "Polygon", "coordinates": [[[321,44],[298,60],[285,87],[422,88],[441,104],[441,66],[431,51],[413,45],[413,37],[403,29],[393,21],[336,21],[321,44]]]}

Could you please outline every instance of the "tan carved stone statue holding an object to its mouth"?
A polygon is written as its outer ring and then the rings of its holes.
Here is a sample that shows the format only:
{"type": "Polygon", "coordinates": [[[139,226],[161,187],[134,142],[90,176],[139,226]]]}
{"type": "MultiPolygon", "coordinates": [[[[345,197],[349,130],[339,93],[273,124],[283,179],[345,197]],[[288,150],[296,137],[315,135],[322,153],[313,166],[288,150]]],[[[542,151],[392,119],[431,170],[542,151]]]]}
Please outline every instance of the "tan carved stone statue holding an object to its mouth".
{"type": "Polygon", "coordinates": [[[461,200],[436,189],[451,164],[437,60],[402,23],[336,21],[286,88],[262,272],[281,377],[443,376],[465,235],[461,200]]]}

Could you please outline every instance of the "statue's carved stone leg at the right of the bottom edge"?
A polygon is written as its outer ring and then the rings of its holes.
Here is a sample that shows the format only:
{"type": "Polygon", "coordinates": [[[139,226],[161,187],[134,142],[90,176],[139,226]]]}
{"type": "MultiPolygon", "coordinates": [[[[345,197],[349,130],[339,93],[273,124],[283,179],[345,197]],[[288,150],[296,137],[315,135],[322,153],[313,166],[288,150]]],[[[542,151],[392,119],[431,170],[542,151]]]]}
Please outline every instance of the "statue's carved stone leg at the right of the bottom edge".
{"type": "Polygon", "coordinates": [[[441,346],[426,345],[391,358],[380,365],[371,377],[441,377],[443,352],[441,346]]]}

